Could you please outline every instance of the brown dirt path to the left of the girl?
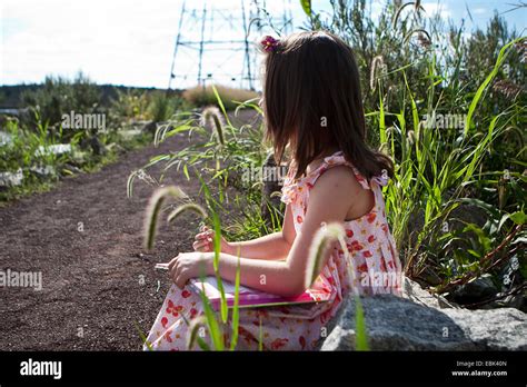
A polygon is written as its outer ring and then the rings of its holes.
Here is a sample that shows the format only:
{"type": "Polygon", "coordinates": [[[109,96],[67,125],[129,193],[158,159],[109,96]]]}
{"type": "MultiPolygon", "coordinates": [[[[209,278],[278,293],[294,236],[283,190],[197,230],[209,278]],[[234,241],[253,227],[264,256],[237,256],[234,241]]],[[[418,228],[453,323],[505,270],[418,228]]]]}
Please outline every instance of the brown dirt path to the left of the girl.
{"type": "MultiPolygon", "coordinates": [[[[153,188],[137,181],[127,199],[126,182],[150,157],[185,145],[170,138],[0,208],[0,270],[42,272],[40,291],[0,288],[0,350],[140,348],[135,322],[150,328],[170,284],[153,265],[189,250],[198,220],[187,216],[185,230],[162,222],[153,252],[145,254],[142,218],[153,188]]],[[[166,183],[197,192],[176,169],[166,183]]]]}

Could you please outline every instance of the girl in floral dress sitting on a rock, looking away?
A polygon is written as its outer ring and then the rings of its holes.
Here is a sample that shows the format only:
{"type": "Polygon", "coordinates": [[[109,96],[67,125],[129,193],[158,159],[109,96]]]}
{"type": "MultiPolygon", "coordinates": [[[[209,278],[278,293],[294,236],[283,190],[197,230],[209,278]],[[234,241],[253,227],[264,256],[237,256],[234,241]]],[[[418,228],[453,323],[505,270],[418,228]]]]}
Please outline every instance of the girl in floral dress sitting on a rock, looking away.
{"type": "MultiPolygon", "coordinates": [[[[359,73],[341,39],[324,31],[300,32],[280,40],[266,37],[261,49],[267,137],[278,161],[286,151],[291,155],[281,196],[287,205],[284,227],[255,240],[222,239],[219,272],[233,282],[239,254],[241,285],[298,295],[306,290],[315,234],[322,224],[342,224],[355,276],[349,275],[344,251],[334,245],[310,288],[329,294],[329,301],[240,309],[237,349],[258,349],[261,321],[265,349],[311,350],[350,286],[362,295],[400,291],[400,262],[381,192],[392,163],[365,142],[359,73]]],[[[193,248],[196,252],[180,254],[169,264],[175,285],[147,339],[155,349],[186,349],[188,326],[181,315],[189,320],[202,312],[200,297],[186,284],[203,267],[213,275],[212,232],[198,234],[193,248]]],[[[229,333],[225,335],[228,341],[229,333]]]]}

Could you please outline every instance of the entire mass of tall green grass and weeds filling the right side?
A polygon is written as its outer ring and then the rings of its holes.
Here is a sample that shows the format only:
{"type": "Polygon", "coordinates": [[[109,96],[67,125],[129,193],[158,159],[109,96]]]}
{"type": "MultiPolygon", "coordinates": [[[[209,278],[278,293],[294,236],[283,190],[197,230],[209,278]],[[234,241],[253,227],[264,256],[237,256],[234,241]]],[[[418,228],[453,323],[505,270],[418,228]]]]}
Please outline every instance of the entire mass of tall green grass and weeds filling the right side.
{"type": "Polygon", "coordinates": [[[503,268],[524,257],[525,37],[498,14],[468,34],[417,1],[386,1],[375,21],[365,0],[331,6],[308,24],[354,49],[369,141],[396,165],[384,194],[407,275],[437,291],[483,272],[501,282],[503,268]],[[461,125],[429,126],[446,115],[461,125]]]}

